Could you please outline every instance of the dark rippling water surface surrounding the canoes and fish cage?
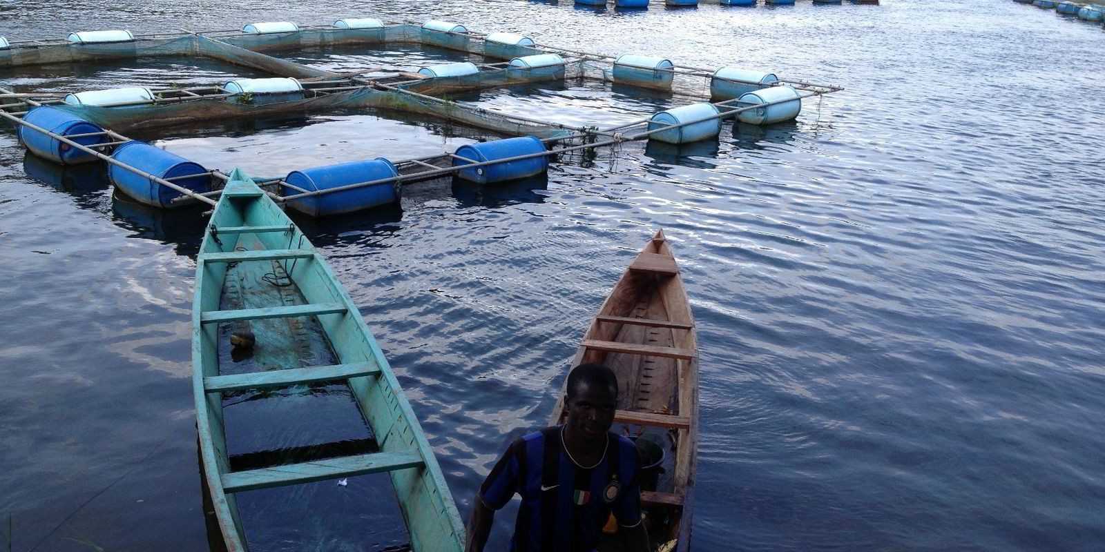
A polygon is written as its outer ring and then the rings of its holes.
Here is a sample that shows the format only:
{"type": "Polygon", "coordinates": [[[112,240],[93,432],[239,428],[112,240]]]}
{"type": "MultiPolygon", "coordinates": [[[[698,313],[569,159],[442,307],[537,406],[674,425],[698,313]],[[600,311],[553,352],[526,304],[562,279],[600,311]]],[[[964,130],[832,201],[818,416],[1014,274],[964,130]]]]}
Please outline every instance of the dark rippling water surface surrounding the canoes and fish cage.
{"type": "MultiPolygon", "coordinates": [[[[630,144],[505,187],[413,185],[401,211],[303,221],[464,514],[507,439],[547,418],[588,317],[663,226],[699,329],[696,550],[1105,549],[1099,25],[1008,0],[625,13],[564,0],[22,0],[0,6],[0,35],[343,17],[450,19],[848,88],[807,102],[796,124],[726,125],[683,149],[630,144]]],[[[450,54],[282,55],[350,68],[450,54]]],[[[160,60],[0,83],[223,74],[255,76],[160,60]]],[[[573,84],[463,99],[575,124],[672,102],[573,84]]],[[[145,138],[281,174],[478,135],[362,112],[145,138]]],[[[0,516],[12,550],[207,549],[189,380],[202,220],[113,198],[96,170],[24,167],[11,131],[0,146],[0,516]]],[[[377,527],[366,517],[349,531],[377,527]]]]}

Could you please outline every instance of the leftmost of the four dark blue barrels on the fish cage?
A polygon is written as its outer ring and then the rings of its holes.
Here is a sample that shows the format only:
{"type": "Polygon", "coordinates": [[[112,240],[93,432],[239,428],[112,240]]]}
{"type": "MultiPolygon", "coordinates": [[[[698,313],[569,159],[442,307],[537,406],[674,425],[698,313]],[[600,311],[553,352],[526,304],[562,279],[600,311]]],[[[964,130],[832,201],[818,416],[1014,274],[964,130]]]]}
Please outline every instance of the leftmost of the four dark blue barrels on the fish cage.
{"type": "MultiPolygon", "coordinates": [[[[65,137],[104,131],[104,129],[96,124],[88,123],[76,115],[50,106],[32,108],[30,112],[27,112],[27,115],[23,116],[23,120],[55,135],[65,137]]],[[[39,157],[44,157],[54,162],[62,164],[77,164],[95,161],[97,159],[97,157],[92,153],[76,149],[69,144],[64,144],[59,139],[51,137],[50,135],[28,128],[23,125],[19,126],[17,134],[19,135],[20,141],[23,142],[23,146],[25,146],[28,150],[39,157]]],[[[82,146],[106,144],[110,140],[110,138],[106,135],[78,136],[71,139],[82,146]]]]}

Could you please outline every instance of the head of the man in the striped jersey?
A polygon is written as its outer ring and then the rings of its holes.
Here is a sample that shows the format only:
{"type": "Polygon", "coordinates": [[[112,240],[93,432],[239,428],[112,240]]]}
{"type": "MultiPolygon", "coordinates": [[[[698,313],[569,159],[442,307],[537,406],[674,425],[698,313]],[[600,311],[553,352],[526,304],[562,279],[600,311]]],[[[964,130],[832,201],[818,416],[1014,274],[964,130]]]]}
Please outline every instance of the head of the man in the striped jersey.
{"type": "Polygon", "coordinates": [[[580,364],[568,374],[568,426],[582,440],[601,445],[618,410],[618,376],[602,364],[580,364]]]}

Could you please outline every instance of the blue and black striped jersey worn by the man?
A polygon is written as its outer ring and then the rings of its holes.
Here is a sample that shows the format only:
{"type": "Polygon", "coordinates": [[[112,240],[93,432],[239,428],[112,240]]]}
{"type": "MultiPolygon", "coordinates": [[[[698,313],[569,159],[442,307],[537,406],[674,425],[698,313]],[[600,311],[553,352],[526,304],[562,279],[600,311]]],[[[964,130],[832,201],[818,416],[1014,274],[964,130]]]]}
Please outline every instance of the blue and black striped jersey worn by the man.
{"type": "Polygon", "coordinates": [[[583,468],[565,452],[562,427],[515,440],[480,488],[480,499],[492,510],[516,492],[522,496],[512,552],[590,552],[611,513],[622,527],[641,522],[633,442],[608,433],[602,460],[583,468]]]}

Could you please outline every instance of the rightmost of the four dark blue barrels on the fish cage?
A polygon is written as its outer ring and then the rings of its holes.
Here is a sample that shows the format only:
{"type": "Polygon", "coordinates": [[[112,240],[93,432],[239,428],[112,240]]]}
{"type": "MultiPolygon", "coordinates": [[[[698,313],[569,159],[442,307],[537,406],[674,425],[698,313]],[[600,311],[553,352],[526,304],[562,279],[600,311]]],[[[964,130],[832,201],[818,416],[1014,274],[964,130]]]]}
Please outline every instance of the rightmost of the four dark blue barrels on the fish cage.
{"type": "MultiPolygon", "coordinates": [[[[463,167],[472,164],[472,162],[494,161],[496,159],[507,159],[544,151],[546,151],[545,144],[534,136],[471,144],[456,148],[456,156],[464,159],[453,158],[453,167],[463,167]]],[[[462,169],[457,171],[456,176],[463,180],[487,184],[540,174],[548,170],[548,156],[536,156],[528,159],[462,169]]]]}

